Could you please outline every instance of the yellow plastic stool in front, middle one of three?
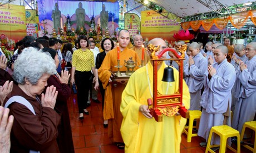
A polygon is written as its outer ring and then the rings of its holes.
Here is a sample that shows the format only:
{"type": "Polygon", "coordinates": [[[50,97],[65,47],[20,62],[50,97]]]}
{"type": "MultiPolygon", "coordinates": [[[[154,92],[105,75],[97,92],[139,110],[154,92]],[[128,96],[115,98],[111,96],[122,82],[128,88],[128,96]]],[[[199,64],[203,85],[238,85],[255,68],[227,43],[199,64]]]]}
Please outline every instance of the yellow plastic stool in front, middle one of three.
{"type": "Polygon", "coordinates": [[[208,137],[208,142],[207,142],[205,153],[208,151],[213,153],[214,151],[210,149],[211,147],[220,147],[219,153],[224,153],[226,151],[226,146],[228,149],[232,150],[233,152],[240,152],[239,132],[228,125],[220,125],[220,126],[211,127],[211,131],[210,131],[210,135],[208,137]],[[213,135],[213,132],[220,136],[220,145],[210,145],[211,144],[211,136],[213,135]],[[227,144],[228,138],[233,137],[233,136],[237,137],[237,150],[233,149],[233,147],[231,147],[227,144]]]}

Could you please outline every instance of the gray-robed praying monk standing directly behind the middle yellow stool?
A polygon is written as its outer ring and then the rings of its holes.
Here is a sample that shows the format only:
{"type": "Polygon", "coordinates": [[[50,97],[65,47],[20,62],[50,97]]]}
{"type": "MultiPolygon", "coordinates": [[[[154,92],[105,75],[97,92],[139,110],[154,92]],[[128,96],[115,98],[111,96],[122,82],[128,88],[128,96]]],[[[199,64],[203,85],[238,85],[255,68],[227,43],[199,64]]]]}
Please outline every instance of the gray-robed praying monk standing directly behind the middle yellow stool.
{"type": "MultiPolygon", "coordinates": [[[[230,125],[231,90],[235,82],[235,68],[227,61],[228,48],[218,46],[214,50],[216,63],[208,66],[205,88],[201,98],[203,107],[198,135],[208,141],[211,127],[230,125]]],[[[219,137],[212,137],[211,144],[219,145],[219,137]]],[[[200,146],[206,147],[207,142],[200,146]]]]}

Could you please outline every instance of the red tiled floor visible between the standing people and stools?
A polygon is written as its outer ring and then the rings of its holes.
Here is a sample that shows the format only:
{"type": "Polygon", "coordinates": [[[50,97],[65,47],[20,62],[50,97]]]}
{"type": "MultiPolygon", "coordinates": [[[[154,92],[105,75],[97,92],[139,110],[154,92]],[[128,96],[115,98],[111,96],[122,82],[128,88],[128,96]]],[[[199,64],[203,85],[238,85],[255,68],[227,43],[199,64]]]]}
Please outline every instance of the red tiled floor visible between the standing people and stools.
{"type": "MultiPolygon", "coordinates": [[[[123,153],[124,150],[118,149],[107,136],[108,129],[104,129],[103,127],[102,103],[92,102],[91,106],[87,108],[90,115],[84,115],[85,119],[81,121],[78,119],[79,114],[76,98],[76,95],[72,95],[68,100],[68,111],[70,112],[75,152],[123,153]]],[[[200,137],[192,137],[191,142],[186,142],[186,135],[183,134],[181,135],[180,152],[205,152],[205,148],[199,146],[200,142],[202,142],[200,137]]],[[[227,149],[227,152],[232,151],[227,149]]],[[[250,151],[241,147],[241,152],[250,151]]]]}

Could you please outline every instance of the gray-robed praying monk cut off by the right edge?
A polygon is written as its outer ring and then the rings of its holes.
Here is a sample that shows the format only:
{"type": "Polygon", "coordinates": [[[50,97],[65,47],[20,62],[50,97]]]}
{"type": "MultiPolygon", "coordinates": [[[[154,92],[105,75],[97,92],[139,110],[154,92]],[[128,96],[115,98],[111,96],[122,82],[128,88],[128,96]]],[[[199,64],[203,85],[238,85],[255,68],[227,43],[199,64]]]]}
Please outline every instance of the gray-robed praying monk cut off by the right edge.
{"type": "MultiPolygon", "coordinates": [[[[248,59],[240,62],[240,72],[237,74],[236,90],[240,92],[232,121],[232,127],[239,132],[242,131],[244,122],[254,120],[256,111],[256,42],[251,42],[245,47],[245,55],[248,59]]],[[[250,133],[245,131],[245,138],[249,138],[250,133]]]]}

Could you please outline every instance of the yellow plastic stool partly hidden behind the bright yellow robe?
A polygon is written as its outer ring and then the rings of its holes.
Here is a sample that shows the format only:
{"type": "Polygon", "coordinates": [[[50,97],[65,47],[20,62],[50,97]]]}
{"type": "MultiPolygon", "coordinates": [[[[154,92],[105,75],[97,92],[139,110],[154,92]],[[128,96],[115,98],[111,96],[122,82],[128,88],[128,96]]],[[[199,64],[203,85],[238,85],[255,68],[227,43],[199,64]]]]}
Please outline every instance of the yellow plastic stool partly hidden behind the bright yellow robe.
{"type": "Polygon", "coordinates": [[[199,127],[199,121],[201,117],[202,112],[198,110],[191,110],[189,111],[189,115],[186,116],[186,119],[189,119],[189,126],[185,126],[183,132],[186,134],[186,142],[191,142],[191,137],[198,136],[198,134],[193,134],[193,128],[196,128],[198,130],[199,127]],[[196,126],[193,126],[193,122],[196,119],[196,126]],[[188,129],[188,130],[186,130],[188,129]]]}

